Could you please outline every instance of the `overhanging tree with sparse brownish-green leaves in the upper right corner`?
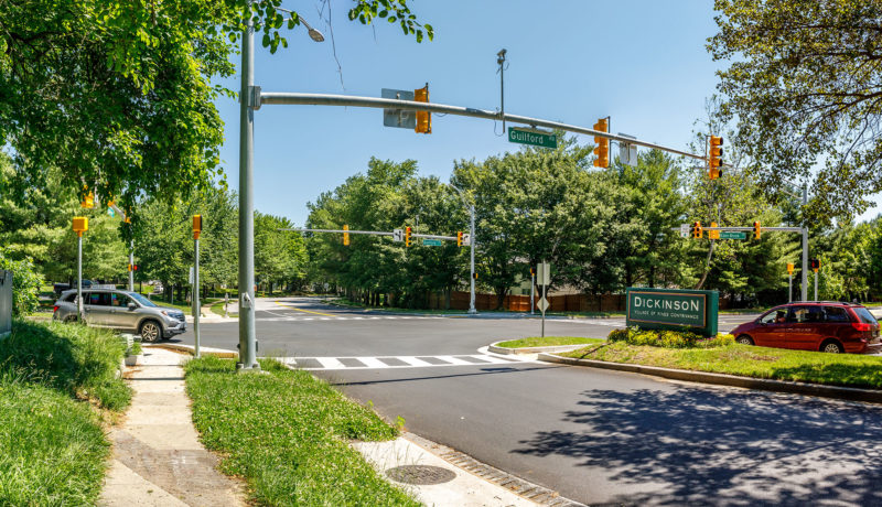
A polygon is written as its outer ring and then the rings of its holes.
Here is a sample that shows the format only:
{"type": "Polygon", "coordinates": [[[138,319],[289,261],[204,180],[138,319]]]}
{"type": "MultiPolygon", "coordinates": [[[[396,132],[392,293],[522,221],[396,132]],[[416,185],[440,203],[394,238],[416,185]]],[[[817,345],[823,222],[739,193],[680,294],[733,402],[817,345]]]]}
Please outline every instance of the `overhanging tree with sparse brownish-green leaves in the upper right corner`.
{"type": "Polygon", "coordinates": [[[811,216],[849,217],[882,191],[882,4],[717,0],[708,40],[751,174],[777,192],[816,171],[811,216]]]}

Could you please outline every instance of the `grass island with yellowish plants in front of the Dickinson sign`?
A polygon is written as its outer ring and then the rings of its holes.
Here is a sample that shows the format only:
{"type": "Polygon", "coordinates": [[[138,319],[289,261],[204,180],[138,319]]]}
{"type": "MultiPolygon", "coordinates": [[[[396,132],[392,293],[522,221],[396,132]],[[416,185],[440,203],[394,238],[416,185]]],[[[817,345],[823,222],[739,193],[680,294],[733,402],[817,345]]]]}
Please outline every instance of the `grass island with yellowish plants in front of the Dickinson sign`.
{"type": "Polygon", "coordinates": [[[560,355],[744,377],[882,388],[880,356],[825,354],[734,343],[711,348],[663,348],[622,342],[590,345],[560,355]]]}

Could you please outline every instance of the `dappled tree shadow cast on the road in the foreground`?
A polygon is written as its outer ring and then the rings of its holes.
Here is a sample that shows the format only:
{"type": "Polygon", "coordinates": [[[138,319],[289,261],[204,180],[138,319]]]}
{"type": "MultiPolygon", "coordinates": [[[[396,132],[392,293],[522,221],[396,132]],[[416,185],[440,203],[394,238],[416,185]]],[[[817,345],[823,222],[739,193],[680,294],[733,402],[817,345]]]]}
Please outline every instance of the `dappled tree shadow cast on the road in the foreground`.
{"type": "Polygon", "coordinates": [[[513,452],[596,468],[615,492],[596,501],[882,504],[882,407],[679,386],[581,396],[562,418],[580,431],[539,431],[513,452]]]}

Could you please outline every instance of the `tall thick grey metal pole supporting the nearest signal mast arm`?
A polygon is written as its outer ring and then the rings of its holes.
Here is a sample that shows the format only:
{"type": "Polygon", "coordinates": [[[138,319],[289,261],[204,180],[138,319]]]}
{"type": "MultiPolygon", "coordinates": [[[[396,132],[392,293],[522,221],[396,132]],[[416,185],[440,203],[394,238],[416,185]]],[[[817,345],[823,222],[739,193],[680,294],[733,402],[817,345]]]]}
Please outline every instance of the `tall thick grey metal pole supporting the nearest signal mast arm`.
{"type": "Polygon", "coordinates": [[[239,93],[239,362],[238,371],[259,370],[255,328],[255,25],[251,1],[241,35],[241,89],[239,93]]]}

